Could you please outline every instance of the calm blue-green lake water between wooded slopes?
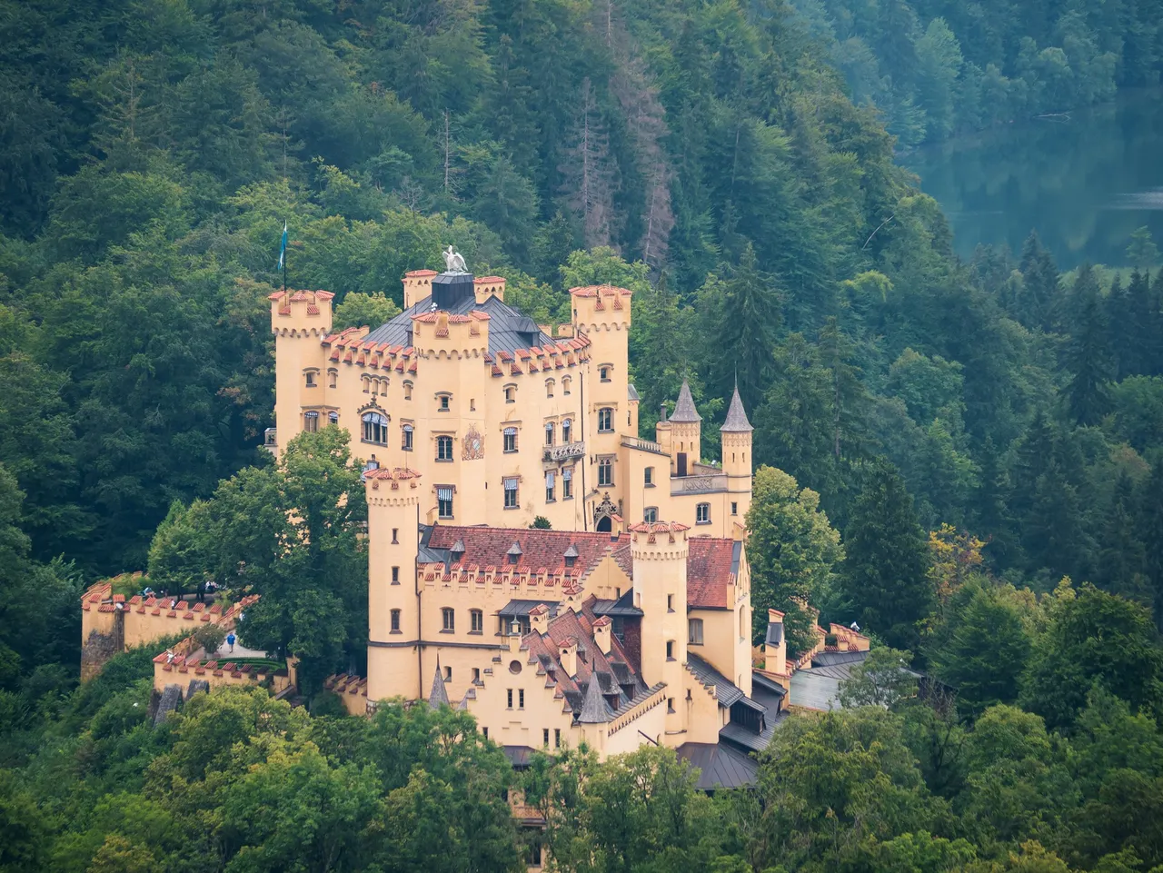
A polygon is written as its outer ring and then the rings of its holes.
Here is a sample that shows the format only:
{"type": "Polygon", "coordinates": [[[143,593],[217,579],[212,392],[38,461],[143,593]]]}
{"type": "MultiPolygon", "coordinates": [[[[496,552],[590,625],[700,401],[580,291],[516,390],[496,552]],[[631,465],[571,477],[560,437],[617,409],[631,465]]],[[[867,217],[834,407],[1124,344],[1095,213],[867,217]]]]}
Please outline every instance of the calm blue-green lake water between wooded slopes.
{"type": "Polygon", "coordinates": [[[1059,269],[1122,265],[1143,224],[1163,249],[1163,88],[1068,119],[1014,123],[904,156],[944,208],[957,253],[1032,228],[1059,269]]]}

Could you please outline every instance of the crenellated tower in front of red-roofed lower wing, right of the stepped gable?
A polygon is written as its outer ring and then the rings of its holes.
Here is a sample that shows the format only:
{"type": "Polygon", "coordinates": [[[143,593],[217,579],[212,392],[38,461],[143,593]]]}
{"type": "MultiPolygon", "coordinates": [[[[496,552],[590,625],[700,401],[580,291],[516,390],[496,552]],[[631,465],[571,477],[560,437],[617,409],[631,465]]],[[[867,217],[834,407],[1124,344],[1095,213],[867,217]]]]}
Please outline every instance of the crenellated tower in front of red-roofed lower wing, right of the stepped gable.
{"type": "Polygon", "coordinates": [[[630,527],[634,603],[642,610],[642,677],[666,684],[666,744],[682,745],[687,707],[682,689],[686,671],[686,559],[690,546],[678,522],[630,527]]]}

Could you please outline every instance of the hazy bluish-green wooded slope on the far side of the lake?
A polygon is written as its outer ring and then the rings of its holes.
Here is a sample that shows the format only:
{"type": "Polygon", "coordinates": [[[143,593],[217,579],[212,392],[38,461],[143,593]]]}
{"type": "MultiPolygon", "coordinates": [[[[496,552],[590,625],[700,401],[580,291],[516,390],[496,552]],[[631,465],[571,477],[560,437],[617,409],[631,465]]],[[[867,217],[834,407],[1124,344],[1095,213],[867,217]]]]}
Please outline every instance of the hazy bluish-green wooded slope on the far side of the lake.
{"type": "Polygon", "coordinates": [[[1153,2],[793,0],[857,103],[902,145],[1157,85],[1153,2]]]}

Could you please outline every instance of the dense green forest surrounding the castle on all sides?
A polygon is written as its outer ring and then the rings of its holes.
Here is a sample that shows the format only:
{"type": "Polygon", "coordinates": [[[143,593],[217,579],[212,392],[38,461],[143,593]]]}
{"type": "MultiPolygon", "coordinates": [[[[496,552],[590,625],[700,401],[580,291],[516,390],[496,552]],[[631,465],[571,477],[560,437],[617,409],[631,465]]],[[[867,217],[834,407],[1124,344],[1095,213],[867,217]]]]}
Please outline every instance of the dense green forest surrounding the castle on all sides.
{"type": "Polygon", "coordinates": [[[1160,24],[1150,0],[0,0],[0,871],[516,870],[509,790],[563,870],[1163,865],[1156,241],[961,260],[894,160],[1157,85],[1160,24]],[[714,797],[662,750],[513,772],[463,714],[335,716],[363,509],[331,499],[343,435],[259,446],[284,222],[288,284],[340,324],[394,314],[449,243],[537,321],[633,289],[644,435],[684,378],[706,422],[737,379],[755,611],[793,650],[805,600],[872,629],[851,708],[714,797]],[[277,553],[312,500],[328,548],[277,553]],[[80,592],[136,570],[262,593],[244,632],[302,657],[309,707],[227,693],[154,728],[154,650],[78,686],[80,592]]]}

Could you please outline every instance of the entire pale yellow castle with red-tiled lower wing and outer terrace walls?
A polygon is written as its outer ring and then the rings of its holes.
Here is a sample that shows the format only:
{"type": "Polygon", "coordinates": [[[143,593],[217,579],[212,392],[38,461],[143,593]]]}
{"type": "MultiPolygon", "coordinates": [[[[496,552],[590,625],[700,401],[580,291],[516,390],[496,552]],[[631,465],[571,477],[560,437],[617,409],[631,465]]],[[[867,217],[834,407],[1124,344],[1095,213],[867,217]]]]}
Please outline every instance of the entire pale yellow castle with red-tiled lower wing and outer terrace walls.
{"type": "MultiPolygon", "coordinates": [[[[818,629],[793,664],[770,610],[752,647],[751,425],[739,392],[719,465],[701,460],[685,381],[655,441],[638,438],[630,292],[570,294],[572,321],[554,330],[505,303],[504,279],[416,271],[400,315],[337,332],[330,293],[271,295],[266,446],[278,456],[281,441],[334,424],[363,464],[368,675],[327,687],[351,714],[391,697],[465,709],[515,764],[538,747],[584,742],[605,757],[655,744],[695,764],[701,787],[747,783],[792,673],[829,637],[854,657],[869,641],[818,629]]],[[[238,611],[119,602],[107,585],[83,604],[94,668],[130,637],[233,625],[238,611]]],[[[293,659],[276,667],[219,664],[191,636],[155,659],[158,718],[202,688],[292,692],[293,659]]]]}

